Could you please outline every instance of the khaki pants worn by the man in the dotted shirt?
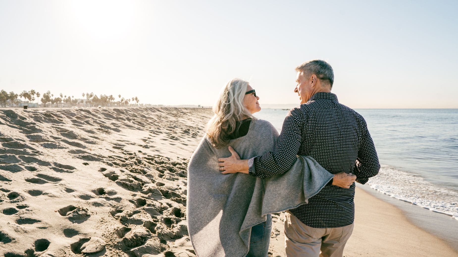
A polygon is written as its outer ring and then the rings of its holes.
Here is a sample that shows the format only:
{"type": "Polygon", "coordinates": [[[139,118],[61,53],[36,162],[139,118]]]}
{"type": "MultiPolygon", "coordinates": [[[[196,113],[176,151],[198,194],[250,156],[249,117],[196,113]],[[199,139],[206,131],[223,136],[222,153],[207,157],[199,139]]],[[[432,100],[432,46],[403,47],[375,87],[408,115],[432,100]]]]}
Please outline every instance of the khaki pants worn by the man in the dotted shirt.
{"type": "Polygon", "coordinates": [[[353,224],[336,228],[313,228],[287,211],[284,221],[286,256],[342,257],[352,231],[353,224]]]}

